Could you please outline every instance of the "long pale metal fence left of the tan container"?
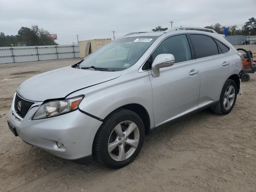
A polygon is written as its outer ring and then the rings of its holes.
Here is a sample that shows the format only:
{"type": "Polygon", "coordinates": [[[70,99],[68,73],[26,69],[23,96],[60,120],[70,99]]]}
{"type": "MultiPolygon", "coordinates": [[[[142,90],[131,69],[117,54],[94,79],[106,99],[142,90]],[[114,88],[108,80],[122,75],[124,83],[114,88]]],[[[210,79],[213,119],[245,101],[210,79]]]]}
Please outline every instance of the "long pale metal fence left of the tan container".
{"type": "Polygon", "coordinates": [[[0,64],[79,57],[79,45],[0,47],[0,64]]]}

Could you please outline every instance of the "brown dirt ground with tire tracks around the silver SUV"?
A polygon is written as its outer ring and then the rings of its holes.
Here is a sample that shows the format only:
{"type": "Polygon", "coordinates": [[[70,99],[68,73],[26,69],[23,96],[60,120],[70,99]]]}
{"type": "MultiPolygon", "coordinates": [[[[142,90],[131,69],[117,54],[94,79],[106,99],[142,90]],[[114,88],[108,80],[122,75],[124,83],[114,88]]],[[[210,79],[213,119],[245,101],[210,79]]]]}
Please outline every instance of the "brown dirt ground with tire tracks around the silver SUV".
{"type": "Polygon", "coordinates": [[[136,160],[119,170],[74,164],[14,137],[6,120],[18,85],[77,61],[0,64],[1,192],[256,191],[256,74],[230,114],[204,110],[146,136],[136,160]]]}

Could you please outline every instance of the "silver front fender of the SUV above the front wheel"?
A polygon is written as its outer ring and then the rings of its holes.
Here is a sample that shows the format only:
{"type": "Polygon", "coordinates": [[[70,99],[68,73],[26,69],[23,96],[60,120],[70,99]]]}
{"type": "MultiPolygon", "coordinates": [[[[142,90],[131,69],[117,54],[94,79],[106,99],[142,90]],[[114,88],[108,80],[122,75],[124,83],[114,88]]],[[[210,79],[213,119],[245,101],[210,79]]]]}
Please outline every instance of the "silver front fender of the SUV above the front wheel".
{"type": "Polygon", "coordinates": [[[154,127],[152,86],[148,72],[133,73],[133,78],[122,74],[114,80],[80,90],[70,95],[84,94],[79,108],[86,113],[104,119],[108,114],[127,104],[140,104],[148,112],[150,128],[154,127]]]}

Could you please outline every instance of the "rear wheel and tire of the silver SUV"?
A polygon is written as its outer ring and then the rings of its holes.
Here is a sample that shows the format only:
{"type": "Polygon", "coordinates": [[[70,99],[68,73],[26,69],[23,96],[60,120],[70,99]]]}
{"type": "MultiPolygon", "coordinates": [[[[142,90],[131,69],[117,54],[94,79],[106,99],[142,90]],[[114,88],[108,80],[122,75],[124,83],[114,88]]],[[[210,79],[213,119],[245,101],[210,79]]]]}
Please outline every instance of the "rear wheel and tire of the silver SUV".
{"type": "Polygon", "coordinates": [[[237,96],[236,83],[232,79],[226,80],[220,94],[219,102],[216,106],[212,107],[212,111],[220,115],[228,114],[233,109],[236,103],[236,96],[237,96]],[[229,91],[231,91],[230,94],[228,94],[229,91]]]}

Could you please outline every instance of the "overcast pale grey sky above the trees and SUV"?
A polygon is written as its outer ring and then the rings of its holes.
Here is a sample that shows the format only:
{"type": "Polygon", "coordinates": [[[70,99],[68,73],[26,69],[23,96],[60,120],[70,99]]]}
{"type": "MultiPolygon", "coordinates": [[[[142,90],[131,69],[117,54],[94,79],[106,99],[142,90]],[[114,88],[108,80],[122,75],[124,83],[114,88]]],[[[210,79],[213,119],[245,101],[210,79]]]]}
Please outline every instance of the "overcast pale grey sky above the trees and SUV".
{"type": "Polygon", "coordinates": [[[0,0],[0,32],[16,35],[38,25],[58,44],[116,38],[156,26],[242,26],[256,17],[256,0],[0,0]]]}

